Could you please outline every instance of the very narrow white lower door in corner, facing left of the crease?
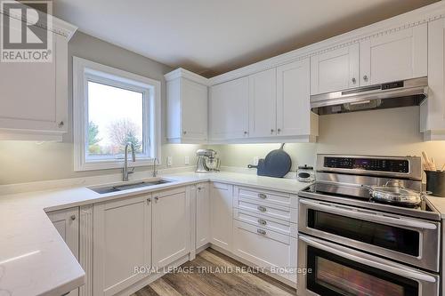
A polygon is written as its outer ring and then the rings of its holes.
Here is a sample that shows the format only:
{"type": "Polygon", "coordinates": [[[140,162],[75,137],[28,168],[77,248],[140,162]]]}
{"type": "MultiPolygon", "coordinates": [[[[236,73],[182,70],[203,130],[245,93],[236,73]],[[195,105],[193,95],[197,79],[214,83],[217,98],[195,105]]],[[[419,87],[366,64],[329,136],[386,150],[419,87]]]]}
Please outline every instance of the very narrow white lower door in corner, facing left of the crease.
{"type": "Polygon", "coordinates": [[[209,184],[197,185],[196,194],[196,248],[210,243],[210,194],[209,184]]]}

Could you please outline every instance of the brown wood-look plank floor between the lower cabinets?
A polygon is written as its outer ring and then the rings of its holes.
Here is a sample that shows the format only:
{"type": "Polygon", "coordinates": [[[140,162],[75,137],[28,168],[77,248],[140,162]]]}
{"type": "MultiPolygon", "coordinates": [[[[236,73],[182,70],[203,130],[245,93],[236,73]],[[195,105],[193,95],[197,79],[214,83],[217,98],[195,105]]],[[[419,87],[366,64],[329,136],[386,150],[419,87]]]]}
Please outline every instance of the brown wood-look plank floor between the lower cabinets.
{"type": "Polygon", "coordinates": [[[170,273],[135,292],[132,296],[288,296],[295,289],[262,273],[206,272],[247,268],[230,257],[207,249],[195,260],[182,264],[183,270],[192,273],[170,273]]]}

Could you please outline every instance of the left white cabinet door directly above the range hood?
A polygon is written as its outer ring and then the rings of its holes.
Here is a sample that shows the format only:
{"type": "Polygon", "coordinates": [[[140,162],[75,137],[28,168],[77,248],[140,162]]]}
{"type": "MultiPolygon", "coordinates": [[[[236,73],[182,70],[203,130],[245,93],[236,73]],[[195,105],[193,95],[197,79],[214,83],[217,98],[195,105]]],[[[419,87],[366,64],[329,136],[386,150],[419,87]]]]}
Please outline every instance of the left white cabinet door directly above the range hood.
{"type": "Polygon", "coordinates": [[[311,94],[336,92],[359,86],[359,44],[311,58],[311,94]]]}

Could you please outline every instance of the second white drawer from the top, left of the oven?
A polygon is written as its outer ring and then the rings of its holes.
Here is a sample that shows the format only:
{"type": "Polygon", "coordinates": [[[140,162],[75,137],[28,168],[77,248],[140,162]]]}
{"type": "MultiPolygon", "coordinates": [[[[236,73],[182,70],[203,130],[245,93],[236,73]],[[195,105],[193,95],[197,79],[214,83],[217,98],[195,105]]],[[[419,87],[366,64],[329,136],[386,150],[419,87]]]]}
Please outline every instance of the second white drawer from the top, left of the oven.
{"type": "Polygon", "coordinates": [[[296,223],[297,211],[294,208],[279,206],[276,204],[267,204],[264,202],[257,202],[248,199],[239,200],[238,204],[235,207],[239,210],[261,214],[261,216],[264,218],[271,217],[296,223]]]}

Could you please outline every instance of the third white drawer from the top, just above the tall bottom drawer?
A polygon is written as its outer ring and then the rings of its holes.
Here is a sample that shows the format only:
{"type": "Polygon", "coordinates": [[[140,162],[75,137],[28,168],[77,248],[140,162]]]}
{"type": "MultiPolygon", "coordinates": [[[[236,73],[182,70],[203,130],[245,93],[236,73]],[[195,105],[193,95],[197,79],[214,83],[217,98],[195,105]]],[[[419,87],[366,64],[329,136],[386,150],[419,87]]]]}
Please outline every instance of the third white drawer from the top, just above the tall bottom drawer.
{"type": "Polygon", "coordinates": [[[283,220],[274,218],[264,219],[262,215],[258,215],[252,212],[247,212],[239,209],[234,209],[234,219],[241,222],[252,224],[256,227],[273,230],[282,235],[294,236],[297,235],[297,228],[295,223],[290,223],[283,220]]]}

